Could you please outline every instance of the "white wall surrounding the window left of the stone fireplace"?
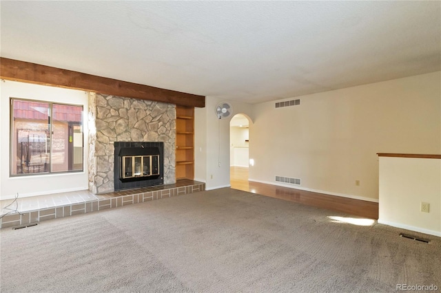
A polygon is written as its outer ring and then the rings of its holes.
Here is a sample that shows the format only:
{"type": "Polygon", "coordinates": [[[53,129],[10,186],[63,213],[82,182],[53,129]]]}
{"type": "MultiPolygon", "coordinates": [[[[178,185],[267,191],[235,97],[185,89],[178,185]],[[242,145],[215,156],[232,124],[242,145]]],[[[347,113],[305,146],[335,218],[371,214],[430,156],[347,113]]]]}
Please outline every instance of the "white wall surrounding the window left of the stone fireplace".
{"type": "Polygon", "coordinates": [[[77,191],[88,189],[88,135],[84,135],[85,171],[51,175],[10,177],[10,98],[25,98],[83,105],[83,131],[88,133],[88,95],[84,91],[31,85],[14,81],[0,83],[0,199],[11,199],[17,193],[20,197],[77,191]]]}

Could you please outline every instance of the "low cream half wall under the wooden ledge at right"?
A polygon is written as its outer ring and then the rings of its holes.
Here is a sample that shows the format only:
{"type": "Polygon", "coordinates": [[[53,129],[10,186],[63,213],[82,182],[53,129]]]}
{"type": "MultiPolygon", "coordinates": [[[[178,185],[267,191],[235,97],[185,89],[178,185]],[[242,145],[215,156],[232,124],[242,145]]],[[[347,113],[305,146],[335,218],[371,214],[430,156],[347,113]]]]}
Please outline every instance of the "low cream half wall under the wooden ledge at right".
{"type": "Polygon", "coordinates": [[[378,223],[441,237],[441,160],[380,157],[379,190],[378,223]]]}

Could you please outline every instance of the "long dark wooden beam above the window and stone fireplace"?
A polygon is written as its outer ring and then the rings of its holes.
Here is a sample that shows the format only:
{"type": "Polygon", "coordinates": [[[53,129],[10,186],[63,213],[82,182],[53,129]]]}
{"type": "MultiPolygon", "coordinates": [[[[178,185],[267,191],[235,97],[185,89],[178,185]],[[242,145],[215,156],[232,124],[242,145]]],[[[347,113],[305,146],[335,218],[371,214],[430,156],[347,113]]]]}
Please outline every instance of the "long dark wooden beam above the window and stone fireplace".
{"type": "Polygon", "coordinates": [[[0,57],[0,78],[21,81],[23,83],[50,85],[52,87],[80,89],[126,98],[168,102],[187,107],[205,107],[205,96],[186,94],[170,89],[160,89],[138,83],[128,83],[127,81],[3,57],[0,57]]]}

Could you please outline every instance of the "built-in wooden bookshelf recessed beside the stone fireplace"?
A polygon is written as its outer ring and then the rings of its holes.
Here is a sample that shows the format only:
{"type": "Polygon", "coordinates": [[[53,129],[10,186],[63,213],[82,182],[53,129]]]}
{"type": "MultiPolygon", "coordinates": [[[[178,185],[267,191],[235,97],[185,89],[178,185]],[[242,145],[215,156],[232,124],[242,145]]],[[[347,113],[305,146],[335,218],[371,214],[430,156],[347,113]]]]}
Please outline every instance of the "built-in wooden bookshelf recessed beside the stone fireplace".
{"type": "Polygon", "coordinates": [[[194,108],[176,106],[176,180],[194,179],[194,108]]]}

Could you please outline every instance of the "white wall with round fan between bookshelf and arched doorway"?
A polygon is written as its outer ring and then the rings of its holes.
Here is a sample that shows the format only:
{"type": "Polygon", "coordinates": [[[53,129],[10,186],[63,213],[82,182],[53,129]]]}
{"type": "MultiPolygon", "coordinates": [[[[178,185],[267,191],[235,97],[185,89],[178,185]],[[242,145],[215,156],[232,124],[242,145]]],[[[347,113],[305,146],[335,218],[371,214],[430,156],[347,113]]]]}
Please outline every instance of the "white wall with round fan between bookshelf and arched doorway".
{"type": "MultiPolygon", "coordinates": [[[[218,98],[205,98],[205,108],[195,111],[195,123],[205,120],[206,131],[195,130],[195,144],[205,144],[204,151],[200,152],[196,145],[195,151],[195,180],[203,180],[207,190],[230,186],[229,184],[229,121],[236,113],[244,113],[250,118],[252,126],[252,105],[234,100],[220,100],[218,98]],[[233,114],[226,119],[218,119],[214,111],[218,102],[229,102],[233,107],[233,114]],[[196,170],[200,162],[205,160],[205,170],[196,170]],[[201,174],[205,171],[205,177],[201,174]],[[197,174],[197,175],[196,175],[197,174]],[[197,179],[196,179],[197,178],[197,179]]],[[[251,139],[251,138],[250,138],[251,139]]]]}

